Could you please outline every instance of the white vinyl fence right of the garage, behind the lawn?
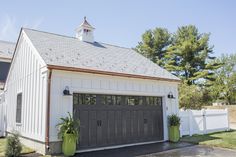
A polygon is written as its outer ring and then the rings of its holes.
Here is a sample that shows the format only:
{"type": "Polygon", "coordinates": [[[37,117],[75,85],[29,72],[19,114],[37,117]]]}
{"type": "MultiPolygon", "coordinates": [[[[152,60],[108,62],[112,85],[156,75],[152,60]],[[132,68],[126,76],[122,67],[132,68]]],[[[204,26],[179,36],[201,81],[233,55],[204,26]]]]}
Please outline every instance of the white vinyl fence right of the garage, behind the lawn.
{"type": "Polygon", "coordinates": [[[180,110],[180,134],[207,134],[229,130],[227,109],[180,110]]]}

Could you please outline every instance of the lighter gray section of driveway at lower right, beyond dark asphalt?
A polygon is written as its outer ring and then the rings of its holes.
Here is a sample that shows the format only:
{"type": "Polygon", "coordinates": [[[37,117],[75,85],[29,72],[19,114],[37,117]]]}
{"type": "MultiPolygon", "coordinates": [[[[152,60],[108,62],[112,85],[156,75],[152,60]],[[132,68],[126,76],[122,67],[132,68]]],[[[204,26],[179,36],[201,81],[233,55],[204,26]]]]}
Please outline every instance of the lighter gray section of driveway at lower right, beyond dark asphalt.
{"type": "Polygon", "coordinates": [[[236,157],[236,150],[195,145],[138,157],[236,157]]]}

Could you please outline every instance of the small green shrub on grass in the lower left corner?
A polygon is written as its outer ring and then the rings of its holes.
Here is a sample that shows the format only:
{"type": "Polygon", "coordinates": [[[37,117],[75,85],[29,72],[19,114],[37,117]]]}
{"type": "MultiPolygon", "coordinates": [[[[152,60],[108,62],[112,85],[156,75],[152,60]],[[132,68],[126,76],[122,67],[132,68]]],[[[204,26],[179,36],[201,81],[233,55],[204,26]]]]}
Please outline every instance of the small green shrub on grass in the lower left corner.
{"type": "Polygon", "coordinates": [[[13,133],[7,137],[5,156],[6,157],[17,157],[20,156],[22,145],[20,143],[19,134],[13,133]]]}

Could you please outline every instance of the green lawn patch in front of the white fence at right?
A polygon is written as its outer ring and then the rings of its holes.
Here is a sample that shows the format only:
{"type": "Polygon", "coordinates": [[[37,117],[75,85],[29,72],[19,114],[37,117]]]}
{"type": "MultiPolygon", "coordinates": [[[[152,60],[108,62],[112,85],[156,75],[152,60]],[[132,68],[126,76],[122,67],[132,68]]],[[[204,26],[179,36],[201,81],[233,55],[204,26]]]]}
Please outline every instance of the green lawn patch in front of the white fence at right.
{"type": "Polygon", "coordinates": [[[236,130],[207,135],[185,136],[181,138],[181,141],[214,147],[236,149],[236,130]]]}

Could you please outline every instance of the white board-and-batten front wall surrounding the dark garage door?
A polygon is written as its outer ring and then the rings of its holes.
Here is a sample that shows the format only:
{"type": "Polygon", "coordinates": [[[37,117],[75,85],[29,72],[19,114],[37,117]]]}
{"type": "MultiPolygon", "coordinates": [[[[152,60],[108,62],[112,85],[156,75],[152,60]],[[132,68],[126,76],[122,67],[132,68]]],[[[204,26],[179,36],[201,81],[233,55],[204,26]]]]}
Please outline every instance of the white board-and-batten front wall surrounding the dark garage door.
{"type": "Polygon", "coordinates": [[[177,83],[107,76],[78,72],[52,72],[51,110],[50,110],[50,141],[58,141],[56,125],[67,112],[73,112],[73,97],[63,96],[68,86],[71,93],[96,93],[117,95],[160,96],[163,98],[164,139],[168,139],[167,115],[178,113],[178,99],[168,99],[172,92],[178,96],[177,83]]]}

